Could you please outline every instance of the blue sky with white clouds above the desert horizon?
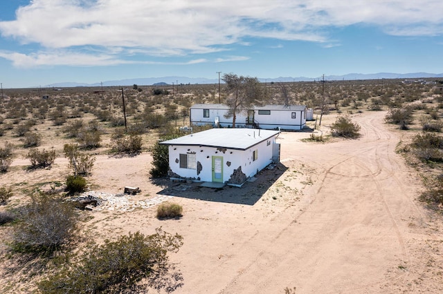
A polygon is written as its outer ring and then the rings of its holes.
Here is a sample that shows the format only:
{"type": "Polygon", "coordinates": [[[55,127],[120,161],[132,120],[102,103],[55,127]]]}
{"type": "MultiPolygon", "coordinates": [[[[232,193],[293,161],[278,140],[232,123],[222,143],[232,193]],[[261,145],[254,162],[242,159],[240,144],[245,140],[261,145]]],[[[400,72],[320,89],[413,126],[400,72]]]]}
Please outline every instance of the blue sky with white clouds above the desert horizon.
{"type": "Polygon", "coordinates": [[[3,88],[442,73],[441,0],[0,0],[3,88]]]}

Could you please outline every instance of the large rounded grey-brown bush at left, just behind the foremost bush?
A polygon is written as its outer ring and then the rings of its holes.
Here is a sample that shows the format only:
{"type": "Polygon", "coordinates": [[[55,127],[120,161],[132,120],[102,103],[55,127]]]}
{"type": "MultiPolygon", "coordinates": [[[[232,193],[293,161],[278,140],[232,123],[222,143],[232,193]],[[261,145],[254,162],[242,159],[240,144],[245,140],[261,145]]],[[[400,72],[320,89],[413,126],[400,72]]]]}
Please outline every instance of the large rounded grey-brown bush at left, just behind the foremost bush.
{"type": "Polygon", "coordinates": [[[23,253],[53,253],[69,243],[77,222],[71,204],[48,195],[33,197],[15,227],[12,248],[23,253]]]}

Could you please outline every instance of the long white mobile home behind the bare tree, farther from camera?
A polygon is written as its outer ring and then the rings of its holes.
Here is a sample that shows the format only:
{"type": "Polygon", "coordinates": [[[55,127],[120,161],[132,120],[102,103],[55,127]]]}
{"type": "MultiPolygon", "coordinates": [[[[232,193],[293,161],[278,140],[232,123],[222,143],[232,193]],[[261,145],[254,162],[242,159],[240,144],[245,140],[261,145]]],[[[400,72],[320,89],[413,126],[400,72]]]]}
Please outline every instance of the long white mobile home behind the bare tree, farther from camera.
{"type": "MultiPolygon", "coordinates": [[[[211,124],[228,128],[233,126],[233,118],[226,118],[228,106],[224,104],[195,104],[190,108],[191,126],[211,124]]],[[[306,106],[266,105],[254,106],[244,113],[237,113],[237,128],[263,128],[267,130],[301,130],[306,126],[306,106]]]]}

